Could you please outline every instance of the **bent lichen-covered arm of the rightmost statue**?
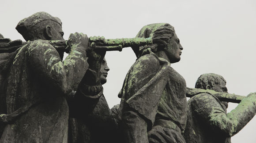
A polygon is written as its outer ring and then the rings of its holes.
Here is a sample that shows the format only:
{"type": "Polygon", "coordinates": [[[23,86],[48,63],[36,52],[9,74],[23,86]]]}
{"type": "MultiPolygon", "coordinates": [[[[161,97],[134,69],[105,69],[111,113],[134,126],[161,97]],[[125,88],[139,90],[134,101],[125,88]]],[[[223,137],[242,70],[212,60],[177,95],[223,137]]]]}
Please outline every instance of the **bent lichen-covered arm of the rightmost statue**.
{"type": "Polygon", "coordinates": [[[199,94],[193,100],[193,108],[199,118],[227,137],[235,135],[253,118],[256,114],[255,104],[256,93],[252,93],[226,114],[220,103],[210,94],[199,94]]]}

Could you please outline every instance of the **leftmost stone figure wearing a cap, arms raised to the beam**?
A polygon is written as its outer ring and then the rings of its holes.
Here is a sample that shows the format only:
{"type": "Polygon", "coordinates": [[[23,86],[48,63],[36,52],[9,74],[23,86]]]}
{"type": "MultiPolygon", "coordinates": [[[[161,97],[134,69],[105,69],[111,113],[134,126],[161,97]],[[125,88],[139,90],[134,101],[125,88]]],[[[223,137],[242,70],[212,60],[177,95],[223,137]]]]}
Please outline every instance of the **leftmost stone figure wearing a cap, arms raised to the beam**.
{"type": "MultiPolygon", "coordinates": [[[[24,18],[16,29],[31,42],[14,52],[9,67],[4,85],[6,113],[0,115],[1,124],[5,124],[0,142],[67,143],[66,98],[77,91],[79,100],[98,100],[102,95],[100,60],[90,58],[95,52],[87,53],[87,36],[75,33],[68,39],[71,52],[62,61],[63,53],[45,41],[61,40],[64,34],[60,19],[48,13],[24,18]],[[85,80],[87,77],[90,82],[85,80]]],[[[99,54],[98,58],[103,56],[99,54]]]]}

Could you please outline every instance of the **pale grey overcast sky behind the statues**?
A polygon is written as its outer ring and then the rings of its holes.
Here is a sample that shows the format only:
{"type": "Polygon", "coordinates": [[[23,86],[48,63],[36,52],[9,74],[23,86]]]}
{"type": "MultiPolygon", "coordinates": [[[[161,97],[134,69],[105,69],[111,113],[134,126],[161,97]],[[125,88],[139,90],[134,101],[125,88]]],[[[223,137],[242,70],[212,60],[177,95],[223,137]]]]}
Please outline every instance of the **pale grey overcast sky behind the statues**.
{"type": "MultiPolygon", "coordinates": [[[[65,39],[73,32],[132,38],[144,25],[169,23],[184,48],[181,61],[172,67],[188,87],[194,87],[201,74],[216,73],[226,79],[229,93],[256,92],[255,0],[2,0],[0,33],[24,40],[15,26],[38,11],[62,20],[65,39]]],[[[117,94],[136,56],[125,48],[105,57],[110,71],[104,95],[113,107],[120,102],[117,94]]],[[[229,111],[236,106],[230,104],[229,111]]],[[[256,143],[255,130],[256,117],[232,137],[232,143],[256,143]]]]}

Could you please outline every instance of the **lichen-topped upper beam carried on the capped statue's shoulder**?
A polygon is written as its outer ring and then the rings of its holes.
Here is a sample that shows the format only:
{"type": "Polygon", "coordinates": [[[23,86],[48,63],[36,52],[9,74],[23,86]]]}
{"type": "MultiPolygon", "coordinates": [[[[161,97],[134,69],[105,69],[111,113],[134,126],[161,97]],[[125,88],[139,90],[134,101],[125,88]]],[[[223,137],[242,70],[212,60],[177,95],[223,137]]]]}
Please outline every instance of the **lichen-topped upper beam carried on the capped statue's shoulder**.
{"type": "MultiPolygon", "coordinates": [[[[68,40],[53,40],[48,42],[51,45],[53,45],[56,50],[61,50],[66,53],[69,53],[70,51],[70,49],[68,49],[68,46],[67,46],[68,40]]],[[[150,45],[152,44],[152,39],[151,37],[121,38],[121,39],[105,39],[104,42],[100,42],[100,41],[94,40],[93,37],[90,37],[89,42],[90,42],[90,47],[92,47],[93,49],[102,49],[106,51],[113,51],[113,50],[122,51],[122,48],[124,47],[150,45]]],[[[11,41],[10,43],[0,43],[0,53],[14,52],[19,47],[29,42],[22,42],[21,40],[15,40],[15,41],[11,41]]]]}

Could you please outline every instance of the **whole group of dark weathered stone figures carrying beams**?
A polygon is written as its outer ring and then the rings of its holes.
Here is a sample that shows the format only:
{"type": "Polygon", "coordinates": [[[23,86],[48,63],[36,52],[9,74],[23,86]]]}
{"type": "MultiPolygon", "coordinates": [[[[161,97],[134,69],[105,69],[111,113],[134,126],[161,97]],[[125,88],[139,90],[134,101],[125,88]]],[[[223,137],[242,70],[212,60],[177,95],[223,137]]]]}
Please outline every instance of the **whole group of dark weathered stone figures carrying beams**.
{"type": "MultiPolygon", "coordinates": [[[[211,93],[187,102],[186,82],[171,67],[183,47],[168,23],[139,31],[136,37],[151,37],[153,44],[132,47],[137,59],[118,94],[120,104],[109,109],[102,87],[106,51],[74,33],[63,60],[64,52],[48,42],[63,40],[61,25],[45,12],[24,18],[16,29],[30,42],[0,53],[0,143],[230,143],[256,114],[256,93],[230,113],[227,102],[211,93]]],[[[201,75],[196,88],[227,92],[216,74],[201,75]]]]}

